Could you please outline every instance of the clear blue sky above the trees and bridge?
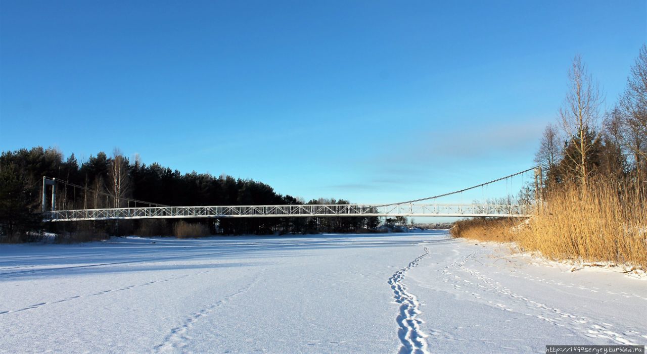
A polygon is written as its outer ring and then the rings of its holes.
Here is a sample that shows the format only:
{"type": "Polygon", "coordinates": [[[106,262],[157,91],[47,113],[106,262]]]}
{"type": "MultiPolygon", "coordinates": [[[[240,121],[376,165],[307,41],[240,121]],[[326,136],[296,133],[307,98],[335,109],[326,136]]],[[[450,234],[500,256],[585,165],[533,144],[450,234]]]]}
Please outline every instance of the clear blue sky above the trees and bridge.
{"type": "Polygon", "coordinates": [[[531,167],[573,56],[609,107],[646,39],[645,1],[3,1],[0,150],[409,200],[531,167]]]}

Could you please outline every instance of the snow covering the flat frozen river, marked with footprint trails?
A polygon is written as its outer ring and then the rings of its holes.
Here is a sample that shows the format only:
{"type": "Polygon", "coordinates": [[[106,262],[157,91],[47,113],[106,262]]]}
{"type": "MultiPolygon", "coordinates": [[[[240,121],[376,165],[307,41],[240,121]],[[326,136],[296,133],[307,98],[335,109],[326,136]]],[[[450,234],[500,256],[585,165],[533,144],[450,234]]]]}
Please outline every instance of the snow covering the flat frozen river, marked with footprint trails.
{"type": "Polygon", "coordinates": [[[446,231],[0,245],[0,353],[538,353],[646,314],[644,278],[446,231]]]}

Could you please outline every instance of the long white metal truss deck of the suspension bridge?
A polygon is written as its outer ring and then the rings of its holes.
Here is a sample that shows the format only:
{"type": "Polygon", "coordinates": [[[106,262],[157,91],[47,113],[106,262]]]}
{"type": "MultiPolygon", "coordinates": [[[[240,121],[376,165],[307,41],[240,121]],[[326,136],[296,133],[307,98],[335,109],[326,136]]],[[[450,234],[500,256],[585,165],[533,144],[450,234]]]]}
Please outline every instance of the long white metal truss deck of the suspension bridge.
{"type": "Polygon", "coordinates": [[[46,222],[149,218],[293,218],[323,216],[485,216],[527,217],[529,205],[494,204],[359,204],[224,205],[59,210],[43,213],[46,222]]]}

